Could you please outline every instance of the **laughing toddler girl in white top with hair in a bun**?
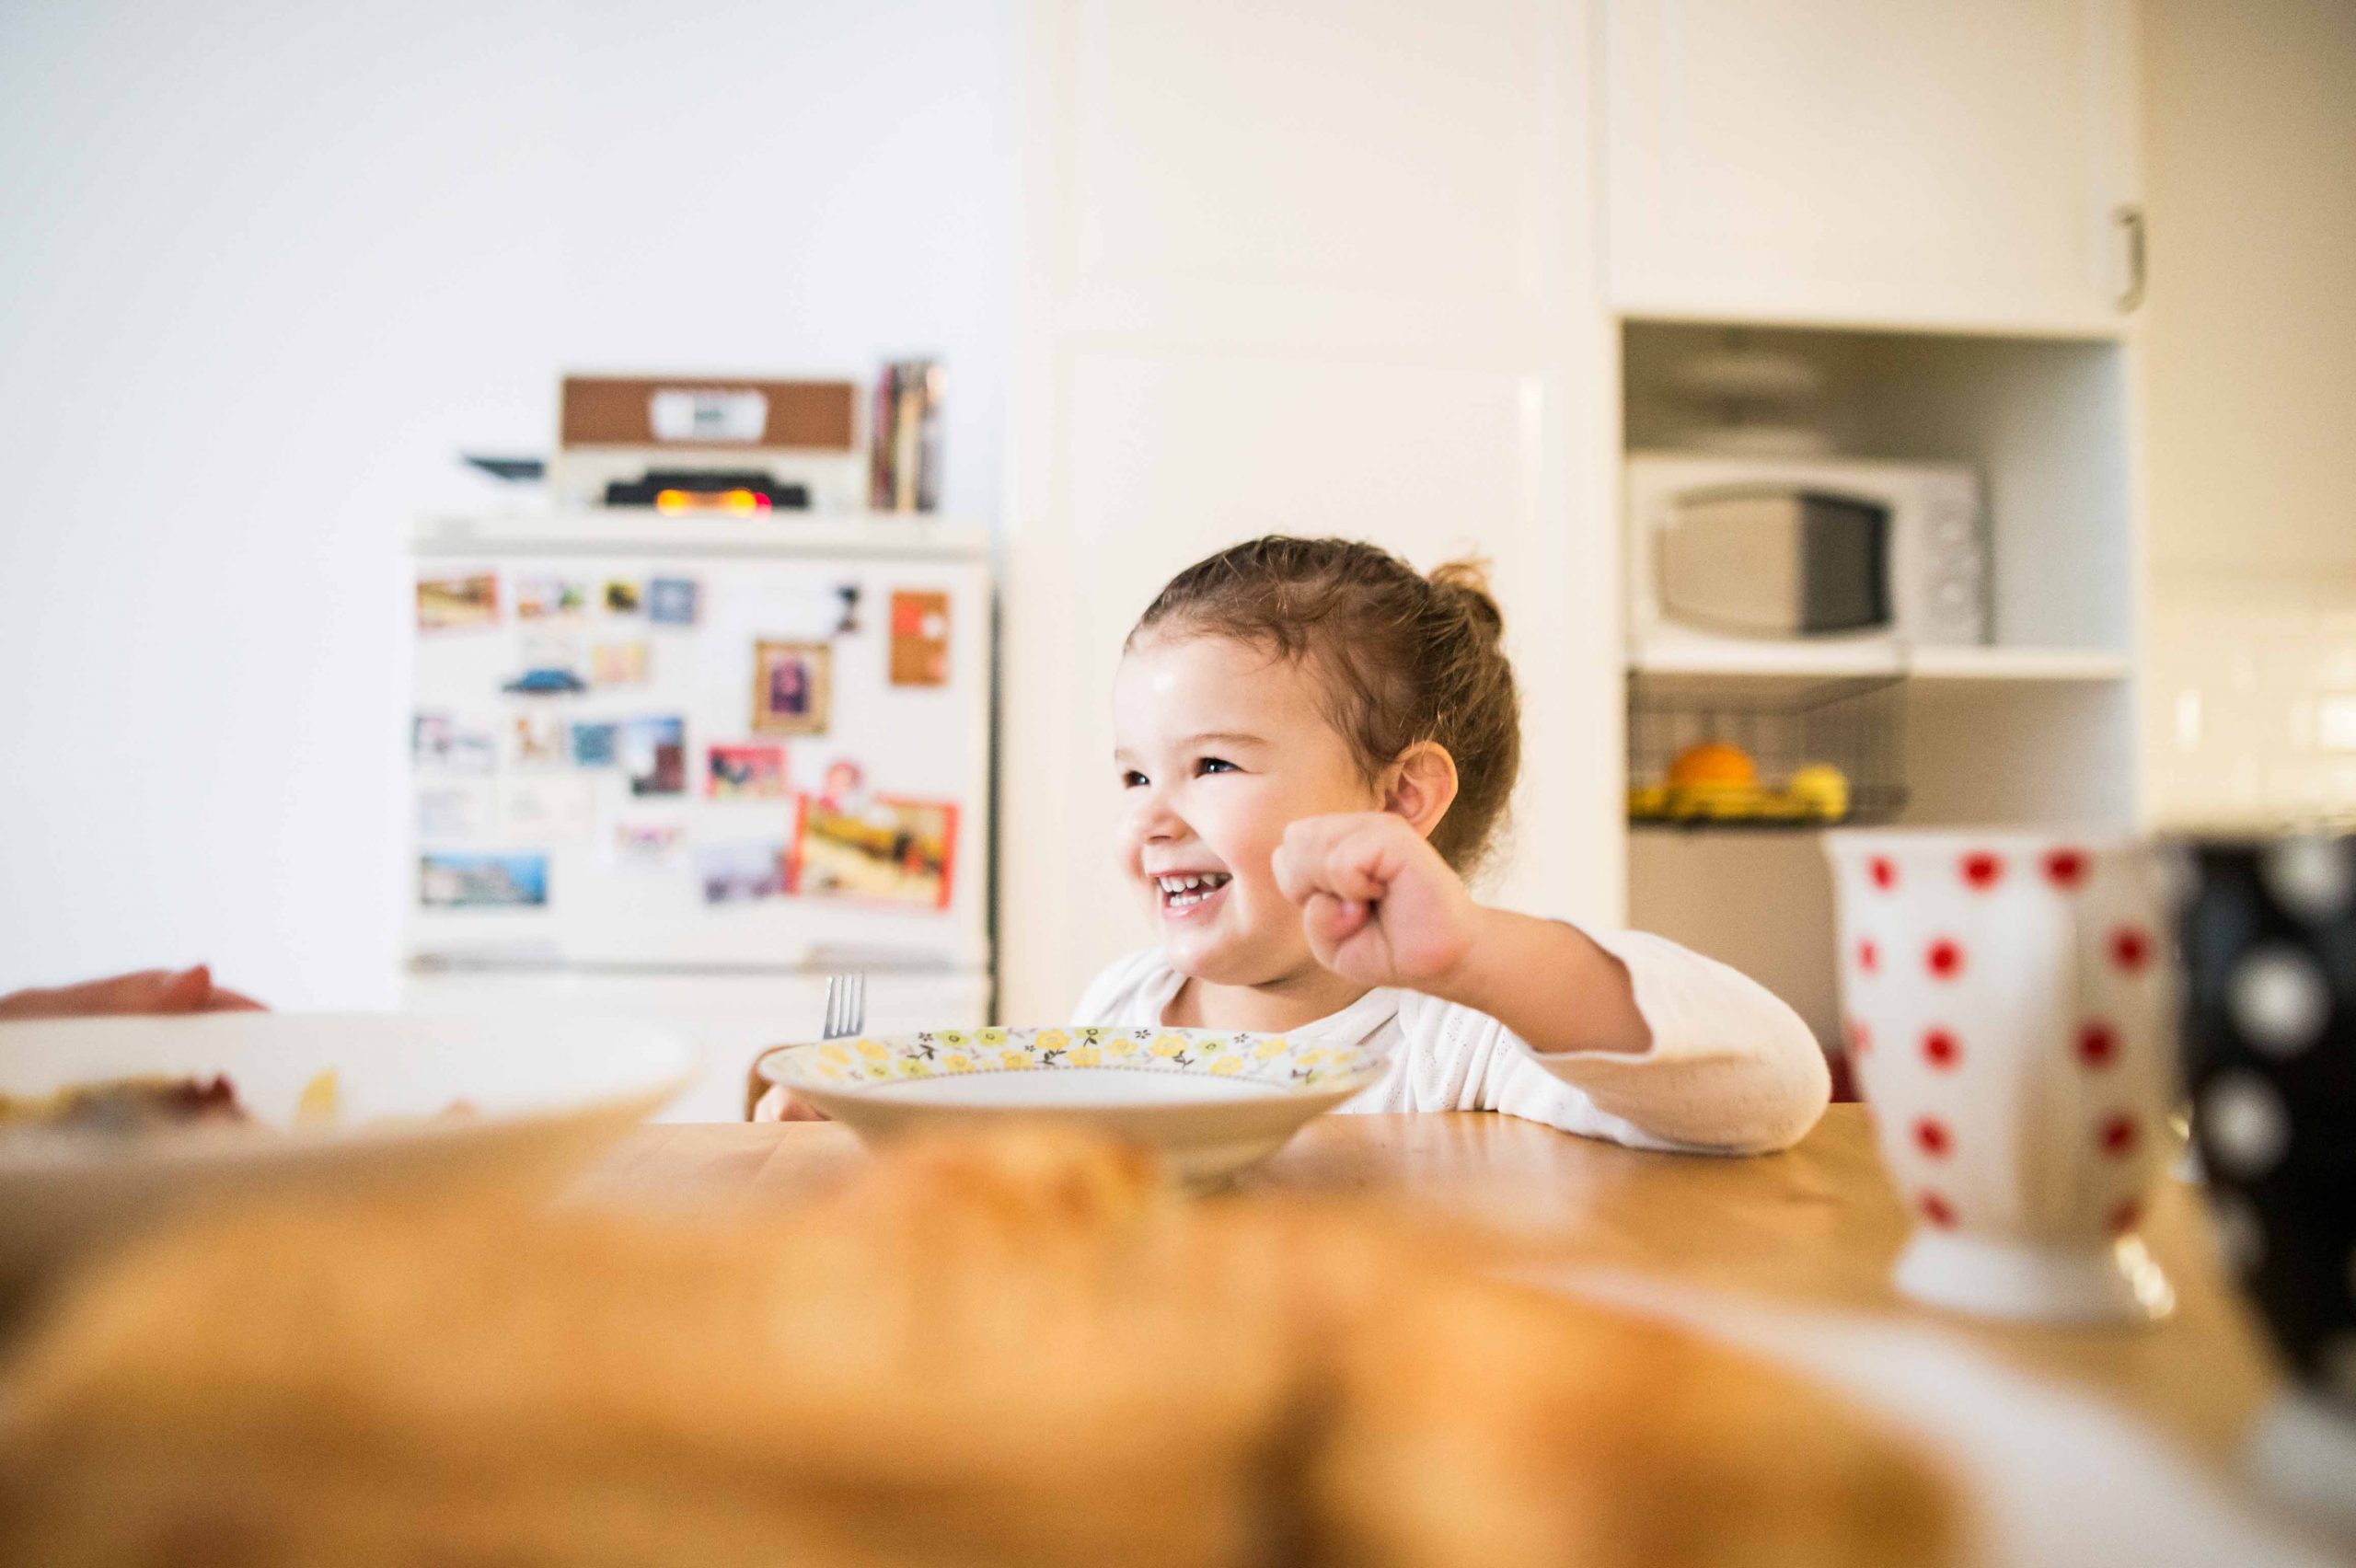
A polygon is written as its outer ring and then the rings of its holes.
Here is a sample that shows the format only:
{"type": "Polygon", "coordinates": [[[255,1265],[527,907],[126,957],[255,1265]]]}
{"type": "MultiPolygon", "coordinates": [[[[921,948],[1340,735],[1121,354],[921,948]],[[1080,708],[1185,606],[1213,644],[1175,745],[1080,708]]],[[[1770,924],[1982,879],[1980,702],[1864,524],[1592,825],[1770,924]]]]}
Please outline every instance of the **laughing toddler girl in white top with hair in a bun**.
{"type": "MultiPolygon", "coordinates": [[[[1510,1111],[1644,1149],[1795,1142],[1807,1024],[1675,942],[1475,904],[1520,770],[1503,617],[1470,565],[1268,537],[1162,589],[1112,687],[1121,859],[1162,944],[1077,1024],[1362,1041],[1345,1111],[1510,1111]]],[[[782,1090],[763,1111],[794,1114],[782,1090]]]]}

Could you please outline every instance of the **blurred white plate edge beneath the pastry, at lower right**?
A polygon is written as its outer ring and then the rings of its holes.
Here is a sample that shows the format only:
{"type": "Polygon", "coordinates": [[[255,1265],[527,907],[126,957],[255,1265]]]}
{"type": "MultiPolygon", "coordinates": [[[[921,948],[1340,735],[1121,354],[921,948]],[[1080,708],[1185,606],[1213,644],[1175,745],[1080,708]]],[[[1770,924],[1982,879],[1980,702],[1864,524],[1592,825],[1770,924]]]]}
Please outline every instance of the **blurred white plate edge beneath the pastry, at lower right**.
{"type": "Polygon", "coordinates": [[[1538,1283],[1788,1361],[1944,1455],[1979,1521],[1972,1568],[2330,1568],[2123,1410],[1920,1326],[1793,1311],[1621,1271],[1538,1283]]]}

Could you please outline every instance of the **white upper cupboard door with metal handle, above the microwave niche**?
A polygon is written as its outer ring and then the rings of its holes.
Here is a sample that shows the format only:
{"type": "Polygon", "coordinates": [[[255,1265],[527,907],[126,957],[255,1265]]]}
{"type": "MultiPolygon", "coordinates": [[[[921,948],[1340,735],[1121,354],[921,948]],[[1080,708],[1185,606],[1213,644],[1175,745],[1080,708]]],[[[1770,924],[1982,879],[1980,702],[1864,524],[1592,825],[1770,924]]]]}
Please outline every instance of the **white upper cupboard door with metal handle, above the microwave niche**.
{"type": "Polygon", "coordinates": [[[2135,0],[1609,0],[1616,311],[2118,332],[2135,0]]]}

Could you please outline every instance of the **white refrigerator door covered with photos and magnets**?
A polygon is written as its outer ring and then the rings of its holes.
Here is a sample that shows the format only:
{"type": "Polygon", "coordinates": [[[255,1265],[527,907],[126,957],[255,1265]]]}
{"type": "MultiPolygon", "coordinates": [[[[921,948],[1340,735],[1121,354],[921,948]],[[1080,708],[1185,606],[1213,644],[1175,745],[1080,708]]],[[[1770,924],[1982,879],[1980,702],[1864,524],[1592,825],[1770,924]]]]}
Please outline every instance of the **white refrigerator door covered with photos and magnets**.
{"type": "Polygon", "coordinates": [[[990,1015],[992,596],[905,516],[448,516],[415,534],[403,1001],[686,1029],[674,1121],[752,1057],[990,1015]]]}

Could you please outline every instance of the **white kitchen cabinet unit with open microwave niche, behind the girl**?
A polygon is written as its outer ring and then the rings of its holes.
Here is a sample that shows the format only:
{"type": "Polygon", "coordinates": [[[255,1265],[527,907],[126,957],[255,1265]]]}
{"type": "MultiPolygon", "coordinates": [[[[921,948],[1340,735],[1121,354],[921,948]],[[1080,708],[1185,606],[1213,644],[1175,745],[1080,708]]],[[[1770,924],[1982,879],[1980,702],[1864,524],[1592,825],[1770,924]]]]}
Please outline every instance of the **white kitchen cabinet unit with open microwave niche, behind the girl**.
{"type": "Polygon", "coordinates": [[[1008,1017],[1150,939],[1110,852],[1044,850],[1110,838],[1129,619],[1251,532],[1487,556],[1527,709],[1489,895],[1736,963],[1828,1045],[1826,800],[2137,822],[2135,306],[2165,235],[2130,0],[1291,2],[1220,49],[1187,16],[1025,9],[1008,1017]],[[1984,640],[1640,636],[1628,459],[1659,452],[1967,471],[1984,640]],[[1633,824],[1696,709],[1871,777],[1802,791],[1814,819],[1633,824]]]}

